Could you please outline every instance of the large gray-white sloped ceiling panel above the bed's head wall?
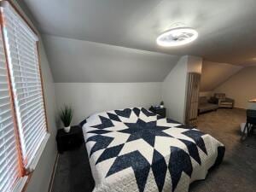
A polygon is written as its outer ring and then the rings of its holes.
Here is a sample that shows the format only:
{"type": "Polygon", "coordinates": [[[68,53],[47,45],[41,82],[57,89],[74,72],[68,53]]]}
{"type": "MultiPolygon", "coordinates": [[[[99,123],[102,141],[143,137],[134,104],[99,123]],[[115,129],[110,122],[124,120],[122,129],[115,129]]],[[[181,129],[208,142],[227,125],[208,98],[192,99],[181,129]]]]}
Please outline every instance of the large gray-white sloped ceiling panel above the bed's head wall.
{"type": "Polygon", "coordinates": [[[44,35],[56,83],[161,82],[179,56],[44,35]]]}

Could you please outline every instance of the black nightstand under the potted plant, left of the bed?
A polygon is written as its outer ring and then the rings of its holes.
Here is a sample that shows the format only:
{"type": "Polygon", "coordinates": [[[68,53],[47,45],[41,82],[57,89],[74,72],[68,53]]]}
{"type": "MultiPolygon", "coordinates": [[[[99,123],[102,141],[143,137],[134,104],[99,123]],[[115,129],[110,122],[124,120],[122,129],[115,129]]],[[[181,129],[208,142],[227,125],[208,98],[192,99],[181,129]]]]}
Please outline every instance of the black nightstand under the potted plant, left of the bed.
{"type": "Polygon", "coordinates": [[[65,132],[64,129],[58,130],[56,142],[60,154],[79,148],[84,143],[82,127],[79,125],[72,126],[69,132],[65,132]]]}

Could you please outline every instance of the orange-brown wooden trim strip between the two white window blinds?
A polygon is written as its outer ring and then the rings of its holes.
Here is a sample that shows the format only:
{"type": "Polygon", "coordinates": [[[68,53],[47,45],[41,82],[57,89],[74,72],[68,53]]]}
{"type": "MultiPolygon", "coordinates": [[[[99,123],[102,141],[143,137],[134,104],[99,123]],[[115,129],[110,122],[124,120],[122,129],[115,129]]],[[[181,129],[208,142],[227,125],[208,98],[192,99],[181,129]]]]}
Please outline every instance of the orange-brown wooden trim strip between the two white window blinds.
{"type": "Polygon", "coordinates": [[[20,177],[24,176],[26,174],[25,167],[24,167],[24,161],[23,161],[23,154],[21,151],[21,143],[20,143],[20,132],[18,128],[18,122],[17,122],[17,115],[16,115],[16,110],[15,110],[15,95],[13,91],[13,86],[11,83],[11,78],[10,78],[10,71],[9,71],[9,59],[8,59],[8,54],[7,54],[7,49],[6,49],[6,40],[3,35],[3,15],[2,12],[0,12],[0,24],[1,24],[1,32],[2,32],[2,38],[3,38],[3,48],[4,48],[4,55],[5,55],[5,65],[7,68],[7,76],[8,76],[8,82],[9,82],[9,96],[10,96],[10,103],[11,103],[11,108],[12,108],[12,115],[14,118],[14,125],[15,125],[15,142],[16,142],[16,147],[19,155],[19,164],[20,164],[20,177]]]}

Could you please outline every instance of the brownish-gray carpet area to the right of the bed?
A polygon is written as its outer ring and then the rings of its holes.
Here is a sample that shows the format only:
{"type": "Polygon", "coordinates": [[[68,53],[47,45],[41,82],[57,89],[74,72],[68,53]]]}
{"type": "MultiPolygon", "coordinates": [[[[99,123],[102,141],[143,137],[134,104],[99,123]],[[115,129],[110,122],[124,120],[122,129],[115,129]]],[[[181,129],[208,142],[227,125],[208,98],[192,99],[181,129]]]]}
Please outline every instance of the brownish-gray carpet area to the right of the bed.
{"type": "Polygon", "coordinates": [[[206,180],[192,183],[190,192],[256,191],[256,137],[241,143],[241,122],[246,122],[244,109],[218,109],[199,116],[198,128],[224,143],[226,153],[221,166],[206,180]]]}

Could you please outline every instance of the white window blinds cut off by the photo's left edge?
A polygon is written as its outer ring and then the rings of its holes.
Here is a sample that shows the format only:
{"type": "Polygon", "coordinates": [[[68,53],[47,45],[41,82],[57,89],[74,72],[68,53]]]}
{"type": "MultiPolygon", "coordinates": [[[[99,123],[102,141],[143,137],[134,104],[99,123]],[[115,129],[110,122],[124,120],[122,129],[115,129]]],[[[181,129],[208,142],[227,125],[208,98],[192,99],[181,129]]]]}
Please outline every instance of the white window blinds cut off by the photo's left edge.
{"type": "Polygon", "coordinates": [[[20,177],[20,150],[17,148],[15,119],[6,66],[2,32],[0,31],[0,191],[10,191],[20,177]]]}

